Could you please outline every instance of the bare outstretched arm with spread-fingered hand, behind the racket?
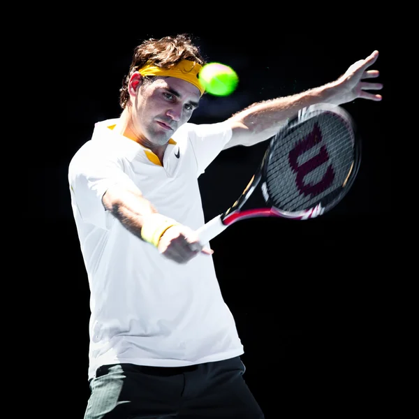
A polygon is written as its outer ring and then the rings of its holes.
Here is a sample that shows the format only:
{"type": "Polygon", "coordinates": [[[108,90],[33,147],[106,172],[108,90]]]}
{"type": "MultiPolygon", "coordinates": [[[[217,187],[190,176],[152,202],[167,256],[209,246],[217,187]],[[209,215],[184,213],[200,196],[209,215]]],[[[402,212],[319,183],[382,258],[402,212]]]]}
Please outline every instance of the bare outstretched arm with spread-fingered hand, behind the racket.
{"type": "Polygon", "coordinates": [[[267,140],[275,135],[288,119],[295,117],[299,110],[316,103],[341,105],[357,98],[381,101],[380,94],[369,93],[368,90],[381,90],[383,85],[365,81],[378,77],[379,72],[377,70],[368,70],[377,58],[378,51],[374,51],[366,59],[361,59],[352,64],[334,82],[300,94],[253,103],[248,108],[237,112],[228,119],[233,130],[233,136],[224,148],[234,147],[235,145],[250,146],[267,140]]]}

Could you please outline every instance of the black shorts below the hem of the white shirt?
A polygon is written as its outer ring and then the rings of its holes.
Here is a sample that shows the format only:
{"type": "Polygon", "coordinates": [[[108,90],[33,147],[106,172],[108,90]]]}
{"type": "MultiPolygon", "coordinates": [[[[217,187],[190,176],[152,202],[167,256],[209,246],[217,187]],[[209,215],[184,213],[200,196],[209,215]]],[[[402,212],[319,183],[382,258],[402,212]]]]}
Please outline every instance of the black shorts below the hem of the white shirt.
{"type": "Polygon", "coordinates": [[[84,419],[263,419],[240,357],[189,367],[115,364],[90,382],[84,419]]]}

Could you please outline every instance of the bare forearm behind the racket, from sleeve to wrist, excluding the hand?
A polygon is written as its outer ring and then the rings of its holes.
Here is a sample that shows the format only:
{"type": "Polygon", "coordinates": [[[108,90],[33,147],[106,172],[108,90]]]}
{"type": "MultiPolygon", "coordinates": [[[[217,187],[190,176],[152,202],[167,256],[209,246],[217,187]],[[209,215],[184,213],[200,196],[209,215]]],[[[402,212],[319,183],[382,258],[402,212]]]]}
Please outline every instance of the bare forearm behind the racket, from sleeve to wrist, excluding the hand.
{"type": "Polygon", "coordinates": [[[325,84],[292,96],[253,103],[248,108],[237,112],[229,119],[233,128],[233,137],[228,147],[254,145],[271,138],[302,108],[330,101],[332,87],[332,83],[325,84]]]}

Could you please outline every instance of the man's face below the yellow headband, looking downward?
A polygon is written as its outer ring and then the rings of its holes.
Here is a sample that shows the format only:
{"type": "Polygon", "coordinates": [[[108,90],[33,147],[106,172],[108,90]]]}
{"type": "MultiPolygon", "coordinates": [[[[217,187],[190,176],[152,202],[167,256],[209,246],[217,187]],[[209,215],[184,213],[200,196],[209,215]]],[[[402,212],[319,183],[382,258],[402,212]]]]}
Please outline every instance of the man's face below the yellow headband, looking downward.
{"type": "Polygon", "coordinates": [[[147,146],[165,145],[198,107],[200,91],[179,78],[157,77],[142,84],[133,100],[135,133],[147,146]]]}

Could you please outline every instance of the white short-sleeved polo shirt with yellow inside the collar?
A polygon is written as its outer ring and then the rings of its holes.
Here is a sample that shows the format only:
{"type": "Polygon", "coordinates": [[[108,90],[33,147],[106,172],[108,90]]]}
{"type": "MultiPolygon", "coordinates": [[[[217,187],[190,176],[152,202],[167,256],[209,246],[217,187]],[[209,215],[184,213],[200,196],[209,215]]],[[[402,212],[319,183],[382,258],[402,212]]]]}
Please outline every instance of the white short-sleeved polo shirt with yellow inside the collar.
{"type": "Polygon", "coordinates": [[[163,166],[151,150],[98,122],[68,168],[71,205],[90,288],[89,378],[101,365],[177,367],[243,353],[212,256],[186,264],[128,232],[102,196],[135,184],[161,214],[197,229],[205,222],[198,177],[231,138],[228,124],[184,124],[163,166]]]}

